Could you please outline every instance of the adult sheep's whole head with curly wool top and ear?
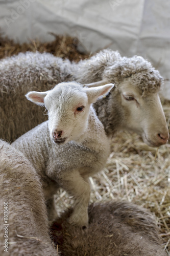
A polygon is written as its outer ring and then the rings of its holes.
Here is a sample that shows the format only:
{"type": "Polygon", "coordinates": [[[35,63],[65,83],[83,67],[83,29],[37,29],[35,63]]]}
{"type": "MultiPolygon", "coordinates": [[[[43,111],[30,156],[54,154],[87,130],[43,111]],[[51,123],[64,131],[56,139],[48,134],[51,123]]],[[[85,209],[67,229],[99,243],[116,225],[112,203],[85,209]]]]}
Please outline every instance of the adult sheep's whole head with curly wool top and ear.
{"type": "Polygon", "coordinates": [[[106,67],[103,81],[87,86],[100,86],[106,82],[115,83],[114,90],[107,99],[103,99],[109,106],[106,132],[111,134],[115,130],[129,130],[141,135],[143,141],[150,146],[165,144],[169,133],[158,95],[162,77],[151,63],[139,56],[124,57],[112,67],[106,67]]]}

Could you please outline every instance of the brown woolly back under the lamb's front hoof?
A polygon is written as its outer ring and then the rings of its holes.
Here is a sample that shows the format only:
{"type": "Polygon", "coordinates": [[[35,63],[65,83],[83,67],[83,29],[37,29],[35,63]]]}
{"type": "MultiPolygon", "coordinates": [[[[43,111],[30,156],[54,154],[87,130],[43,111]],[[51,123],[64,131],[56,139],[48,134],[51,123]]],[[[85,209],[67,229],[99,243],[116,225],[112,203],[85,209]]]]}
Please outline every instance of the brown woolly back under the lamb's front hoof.
{"type": "Polygon", "coordinates": [[[52,225],[62,255],[67,256],[166,256],[159,229],[146,209],[125,201],[89,205],[89,227],[70,227],[65,212],[52,225]]]}

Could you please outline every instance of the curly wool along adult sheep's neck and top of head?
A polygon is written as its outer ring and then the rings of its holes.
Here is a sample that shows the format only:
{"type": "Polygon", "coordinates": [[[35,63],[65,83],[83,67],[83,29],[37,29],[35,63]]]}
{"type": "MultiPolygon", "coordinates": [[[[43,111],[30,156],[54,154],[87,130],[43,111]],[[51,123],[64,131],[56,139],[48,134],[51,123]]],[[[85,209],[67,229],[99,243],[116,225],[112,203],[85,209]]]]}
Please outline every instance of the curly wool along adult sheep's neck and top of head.
{"type": "Polygon", "coordinates": [[[117,51],[109,49],[75,65],[75,78],[84,83],[107,79],[118,87],[118,84],[128,77],[143,96],[158,92],[163,81],[159,71],[141,56],[121,57],[117,51]]]}

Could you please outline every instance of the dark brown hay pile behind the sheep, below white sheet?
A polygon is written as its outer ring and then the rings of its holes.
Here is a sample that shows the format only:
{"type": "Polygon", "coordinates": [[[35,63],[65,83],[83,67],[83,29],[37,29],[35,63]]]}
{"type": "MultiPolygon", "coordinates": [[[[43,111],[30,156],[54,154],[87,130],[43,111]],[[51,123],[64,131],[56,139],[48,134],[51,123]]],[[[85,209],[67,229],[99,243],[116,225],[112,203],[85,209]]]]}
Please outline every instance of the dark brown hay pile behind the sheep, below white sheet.
{"type": "Polygon", "coordinates": [[[54,41],[42,43],[38,40],[31,40],[29,43],[16,44],[13,40],[2,37],[0,34],[0,59],[9,57],[19,52],[49,52],[61,58],[68,58],[69,60],[79,61],[89,56],[86,50],[83,49],[78,38],[69,36],[54,35],[54,41]],[[78,51],[81,49],[82,52],[78,51]]]}

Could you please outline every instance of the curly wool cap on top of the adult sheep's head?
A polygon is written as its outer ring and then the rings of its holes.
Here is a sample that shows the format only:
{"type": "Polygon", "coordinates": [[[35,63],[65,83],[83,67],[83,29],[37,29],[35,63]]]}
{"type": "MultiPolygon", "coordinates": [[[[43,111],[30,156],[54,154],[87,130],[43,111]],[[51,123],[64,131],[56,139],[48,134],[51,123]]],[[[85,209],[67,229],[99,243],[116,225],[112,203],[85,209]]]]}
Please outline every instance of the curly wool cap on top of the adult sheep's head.
{"type": "Polygon", "coordinates": [[[149,61],[140,56],[123,57],[122,60],[105,69],[103,78],[118,84],[128,77],[131,78],[133,86],[140,89],[143,96],[159,92],[162,86],[163,79],[159,71],[155,70],[149,61]]]}

